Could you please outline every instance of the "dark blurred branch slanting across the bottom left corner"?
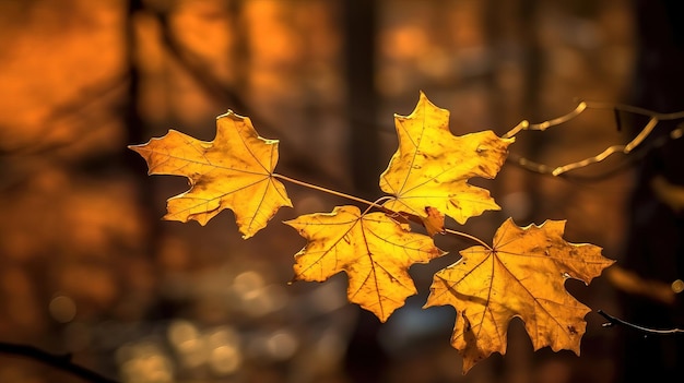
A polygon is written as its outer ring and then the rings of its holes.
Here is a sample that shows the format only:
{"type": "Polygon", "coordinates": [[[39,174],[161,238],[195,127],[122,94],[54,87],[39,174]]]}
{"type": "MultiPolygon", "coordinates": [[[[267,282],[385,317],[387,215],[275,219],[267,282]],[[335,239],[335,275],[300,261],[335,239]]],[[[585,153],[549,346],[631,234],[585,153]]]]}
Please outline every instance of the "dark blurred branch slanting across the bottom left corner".
{"type": "Polygon", "coordinates": [[[27,359],[35,360],[43,364],[49,366],[57,370],[70,373],[74,376],[81,378],[87,382],[94,383],[117,383],[117,381],[106,378],[95,371],[89,370],[84,367],[74,364],[71,361],[71,355],[55,355],[33,346],[17,345],[11,343],[0,342],[0,354],[9,356],[19,356],[27,359]]]}

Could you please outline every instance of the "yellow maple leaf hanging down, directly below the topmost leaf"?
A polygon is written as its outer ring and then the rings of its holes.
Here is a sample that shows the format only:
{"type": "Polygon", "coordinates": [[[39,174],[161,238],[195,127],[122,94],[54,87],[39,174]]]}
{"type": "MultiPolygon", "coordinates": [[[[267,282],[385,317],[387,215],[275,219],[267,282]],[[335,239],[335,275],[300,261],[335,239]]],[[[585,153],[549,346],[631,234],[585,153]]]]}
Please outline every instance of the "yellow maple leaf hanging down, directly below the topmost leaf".
{"type": "Polygon", "coordinates": [[[349,276],[347,298],[382,322],[417,294],[409,275],[415,263],[444,255],[428,236],[410,232],[385,213],[362,214],[356,206],[299,216],[285,224],[307,239],[295,254],[295,280],[323,282],[349,276]]]}

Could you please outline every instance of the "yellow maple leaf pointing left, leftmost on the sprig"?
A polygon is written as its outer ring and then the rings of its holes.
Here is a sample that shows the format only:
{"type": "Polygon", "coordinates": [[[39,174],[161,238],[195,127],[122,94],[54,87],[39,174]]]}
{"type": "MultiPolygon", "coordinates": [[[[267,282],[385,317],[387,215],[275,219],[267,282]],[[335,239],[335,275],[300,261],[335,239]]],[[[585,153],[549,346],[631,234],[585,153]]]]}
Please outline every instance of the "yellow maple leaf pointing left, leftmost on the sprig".
{"type": "Polygon", "coordinates": [[[150,175],[189,179],[190,190],[167,201],[164,219],[205,225],[224,208],[235,213],[243,238],[266,227],[281,206],[292,206],[273,178],[278,141],[259,136],[249,118],[228,110],[216,118],[216,136],[200,141],[175,130],[146,144],[131,145],[150,175]]]}

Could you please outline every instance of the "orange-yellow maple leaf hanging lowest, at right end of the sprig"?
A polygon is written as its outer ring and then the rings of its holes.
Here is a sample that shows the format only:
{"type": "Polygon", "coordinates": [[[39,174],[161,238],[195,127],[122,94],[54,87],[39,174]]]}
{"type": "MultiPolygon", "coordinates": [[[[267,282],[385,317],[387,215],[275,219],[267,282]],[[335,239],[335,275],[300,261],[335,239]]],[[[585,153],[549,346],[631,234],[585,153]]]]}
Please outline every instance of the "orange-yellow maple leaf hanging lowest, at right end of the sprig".
{"type": "Polygon", "coordinates": [[[506,220],[494,246],[471,247],[437,272],[425,307],[457,310],[451,344],[463,357],[463,373],[492,352],[506,352],[511,319],[518,316],[534,349],[551,346],[579,355],[585,315],[591,311],[565,289],[565,280],[589,284],[614,261],[593,244],[566,242],[565,220],[520,228],[506,220]]]}

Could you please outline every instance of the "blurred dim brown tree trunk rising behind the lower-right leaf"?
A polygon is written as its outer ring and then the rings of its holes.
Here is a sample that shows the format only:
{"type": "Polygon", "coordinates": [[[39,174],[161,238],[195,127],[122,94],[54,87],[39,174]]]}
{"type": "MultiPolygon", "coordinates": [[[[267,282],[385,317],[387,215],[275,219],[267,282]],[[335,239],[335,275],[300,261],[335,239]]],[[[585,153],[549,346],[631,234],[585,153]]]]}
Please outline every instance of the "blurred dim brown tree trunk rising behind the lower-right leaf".
{"type": "MultiPolygon", "coordinates": [[[[506,127],[506,116],[522,115],[531,122],[539,122],[540,89],[543,70],[543,55],[539,39],[539,2],[536,0],[517,0],[506,3],[490,0],[485,5],[485,35],[487,46],[494,52],[493,69],[486,81],[490,86],[490,110],[497,127],[506,127]],[[512,16],[511,16],[512,15],[512,16]],[[519,55],[516,55],[519,53],[519,55]],[[517,57],[519,56],[519,57],[517,57]],[[515,62],[515,61],[517,62],[515,62]],[[522,95],[519,105],[510,105],[509,99],[505,99],[506,94],[502,89],[500,79],[497,75],[503,71],[502,62],[514,61],[519,67],[519,76],[522,83],[522,95]],[[499,68],[497,68],[499,67],[499,68]]],[[[507,127],[509,129],[510,127],[507,127]]],[[[505,131],[505,130],[504,130],[505,131]]],[[[536,151],[543,147],[543,139],[539,135],[531,135],[516,144],[517,152],[523,157],[535,158],[536,151]]],[[[518,224],[527,224],[534,220],[540,211],[542,200],[539,190],[538,176],[528,171],[516,171],[510,173],[508,183],[512,189],[521,189],[529,201],[530,210],[523,212],[524,215],[516,217],[518,224]]],[[[499,183],[493,188],[497,188],[499,183]]],[[[494,191],[494,189],[493,189],[494,191]]],[[[534,355],[527,346],[528,335],[521,326],[514,326],[509,331],[509,347],[506,358],[497,366],[497,373],[505,373],[506,380],[510,382],[529,382],[530,367],[534,355]],[[512,347],[511,347],[512,346],[512,347]],[[514,352],[510,352],[514,351],[514,352]]]]}

